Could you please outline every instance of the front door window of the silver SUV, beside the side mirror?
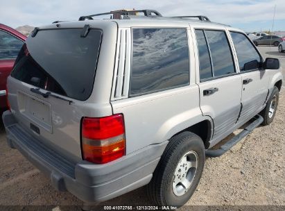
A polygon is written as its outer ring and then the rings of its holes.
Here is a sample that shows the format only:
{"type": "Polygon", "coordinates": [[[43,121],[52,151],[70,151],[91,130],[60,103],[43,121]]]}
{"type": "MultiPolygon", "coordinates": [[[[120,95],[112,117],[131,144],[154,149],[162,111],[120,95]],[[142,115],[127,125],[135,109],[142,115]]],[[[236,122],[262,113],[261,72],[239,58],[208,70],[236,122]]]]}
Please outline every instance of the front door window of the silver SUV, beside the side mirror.
{"type": "Polygon", "coordinates": [[[232,41],[234,42],[241,71],[257,69],[259,62],[261,62],[261,57],[252,43],[242,33],[231,32],[230,34],[232,35],[232,41]]]}

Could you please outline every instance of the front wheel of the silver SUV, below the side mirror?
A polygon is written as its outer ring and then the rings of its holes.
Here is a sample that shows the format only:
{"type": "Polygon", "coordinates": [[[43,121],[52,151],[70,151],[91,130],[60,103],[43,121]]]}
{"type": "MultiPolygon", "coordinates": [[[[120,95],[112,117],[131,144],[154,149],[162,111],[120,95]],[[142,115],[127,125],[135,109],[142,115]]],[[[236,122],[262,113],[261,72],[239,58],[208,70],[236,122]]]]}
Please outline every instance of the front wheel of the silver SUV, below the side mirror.
{"type": "Polygon", "coordinates": [[[262,110],[260,113],[261,117],[264,118],[264,121],[262,122],[264,126],[267,126],[271,124],[271,122],[273,122],[273,119],[275,117],[278,108],[278,102],[279,102],[279,90],[277,87],[274,87],[273,92],[271,93],[270,98],[266,103],[266,108],[264,108],[264,110],[262,110]],[[272,109],[273,107],[274,110],[272,109]]]}

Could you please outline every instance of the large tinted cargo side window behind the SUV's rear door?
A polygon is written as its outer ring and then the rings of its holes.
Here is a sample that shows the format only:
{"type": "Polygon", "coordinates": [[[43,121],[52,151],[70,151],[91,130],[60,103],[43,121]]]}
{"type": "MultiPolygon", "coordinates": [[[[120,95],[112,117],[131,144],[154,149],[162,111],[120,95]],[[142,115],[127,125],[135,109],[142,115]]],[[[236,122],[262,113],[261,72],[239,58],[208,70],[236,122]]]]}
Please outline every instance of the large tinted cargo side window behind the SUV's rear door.
{"type": "Polygon", "coordinates": [[[135,28],[132,40],[130,96],[189,84],[186,29],[135,28]]]}

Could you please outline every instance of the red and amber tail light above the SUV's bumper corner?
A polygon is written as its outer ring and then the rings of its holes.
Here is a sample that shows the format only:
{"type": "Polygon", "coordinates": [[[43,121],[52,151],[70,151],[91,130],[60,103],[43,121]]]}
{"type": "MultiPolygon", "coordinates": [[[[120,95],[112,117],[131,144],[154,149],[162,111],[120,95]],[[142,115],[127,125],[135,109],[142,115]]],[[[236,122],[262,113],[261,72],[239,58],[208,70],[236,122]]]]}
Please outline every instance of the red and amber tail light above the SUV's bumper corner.
{"type": "Polygon", "coordinates": [[[84,117],[81,124],[83,159],[103,164],[125,155],[123,115],[84,117]]]}

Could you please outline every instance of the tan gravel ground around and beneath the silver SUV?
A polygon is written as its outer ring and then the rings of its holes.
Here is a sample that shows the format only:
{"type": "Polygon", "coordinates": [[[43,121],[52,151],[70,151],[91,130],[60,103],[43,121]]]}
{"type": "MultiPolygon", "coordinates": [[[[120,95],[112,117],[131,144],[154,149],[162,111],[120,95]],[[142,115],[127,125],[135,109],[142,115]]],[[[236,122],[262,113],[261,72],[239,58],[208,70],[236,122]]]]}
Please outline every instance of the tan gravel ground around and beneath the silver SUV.
{"type": "MultiPolygon", "coordinates": [[[[285,53],[278,53],[277,47],[259,50],[264,57],[279,58],[285,76],[285,53]]],[[[285,205],[284,88],[273,124],[259,126],[220,158],[208,158],[200,185],[187,205],[285,205]]],[[[3,124],[0,127],[0,205],[51,205],[50,210],[77,205],[70,209],[80,210],[81,201],[68,192],[55,191],[49,178],[17,150],[8,148],[3,124]]],[[[130,203],[149,204],[144,187],[101,205],[130,203]]]]}

